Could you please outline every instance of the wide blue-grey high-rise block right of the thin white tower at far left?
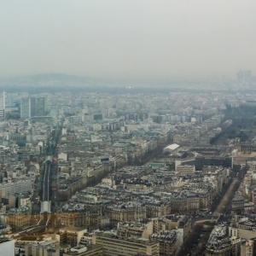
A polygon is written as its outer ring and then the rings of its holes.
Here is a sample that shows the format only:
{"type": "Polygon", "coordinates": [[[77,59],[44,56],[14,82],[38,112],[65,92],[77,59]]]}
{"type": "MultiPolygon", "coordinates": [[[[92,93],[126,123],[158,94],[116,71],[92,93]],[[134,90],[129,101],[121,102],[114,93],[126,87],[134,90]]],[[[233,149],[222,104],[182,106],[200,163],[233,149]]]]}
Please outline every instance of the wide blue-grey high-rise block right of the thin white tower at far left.
{"type": "Polygon", "coordinates": [[[27,97],[21,99],[20,117],[28,119],[34,116],[44,116],[44,97],[27,97]]]}

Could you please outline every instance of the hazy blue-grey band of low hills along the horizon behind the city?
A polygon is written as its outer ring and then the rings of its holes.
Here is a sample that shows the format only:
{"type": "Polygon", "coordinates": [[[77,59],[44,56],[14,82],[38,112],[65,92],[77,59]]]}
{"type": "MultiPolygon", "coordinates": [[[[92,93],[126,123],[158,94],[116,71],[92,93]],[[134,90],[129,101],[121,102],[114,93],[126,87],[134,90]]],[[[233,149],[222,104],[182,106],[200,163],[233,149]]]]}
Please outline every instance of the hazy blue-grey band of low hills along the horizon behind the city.
{"type": "MultiPolygon", "coordinates": [[[[0,91],[29,92],[32,94],[44,92],[80,91],[119,93],[168,93],[170,91],[229,91],[232,84],[218,84],[215,81],[187,79],[95,79],[63,73],[45,73],[24,77],[0,78],[0,91]]],[[[242,88],[243,93],[245,92],[242,88]]],[[[253,89],[251,89],[254,91],[253,89]]],[[[234,91],[234,90],[232,90],[234,91]]],[[[248,92],[250,90],[247,90],[248,92]]]]}

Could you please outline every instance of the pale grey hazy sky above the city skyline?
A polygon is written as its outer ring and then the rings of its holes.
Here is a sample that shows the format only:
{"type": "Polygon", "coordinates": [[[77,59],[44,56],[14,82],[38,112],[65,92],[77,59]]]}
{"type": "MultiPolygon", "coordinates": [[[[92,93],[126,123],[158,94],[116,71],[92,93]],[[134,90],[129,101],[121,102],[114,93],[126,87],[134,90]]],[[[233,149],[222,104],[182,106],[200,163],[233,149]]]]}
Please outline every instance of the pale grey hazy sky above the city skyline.
{"type": "Polygon", "coordinates": [[[0,77],[256,73],[255,0],[0,0],[0,77]]]}

